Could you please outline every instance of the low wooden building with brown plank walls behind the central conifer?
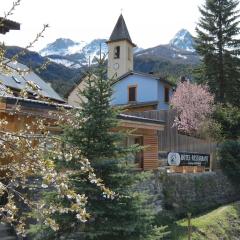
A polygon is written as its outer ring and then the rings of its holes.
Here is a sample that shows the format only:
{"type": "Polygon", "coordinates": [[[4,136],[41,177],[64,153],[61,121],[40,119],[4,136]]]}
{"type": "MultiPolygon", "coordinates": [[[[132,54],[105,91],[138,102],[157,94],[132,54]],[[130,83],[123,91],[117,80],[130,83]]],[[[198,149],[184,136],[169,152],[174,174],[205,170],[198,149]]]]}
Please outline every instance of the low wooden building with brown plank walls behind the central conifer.
{"type": "MultiPolygon", "coordinates": [[[[67,104],[49,103],[19,97],[2,97],[0,118],[8,121],[8,125],[4,127],[4,130],[10,132],[20,131],[26,124],[31,125],[39,118],[43,118],[48,124],[52,123],[52,126],[55,126],[55,119],[49,112],[58,111],[59,107],[71,108],[67,104]],[[20,111],[16,111],[16,106],[21,107],[20,111]]],[[[139,144],[144,147],[143,151],[135,156],[136,168],[142,170],[156,169],[158,167],[158,131],[163,130],[164,122],[125,114],[119,114],[118,119],[120,129],[131,132],[128,135],[128,144],[139,144]]],[[[51,131],[54,131],[53,127],[51,131]]],[[[57,131],[55,133],[59,134],[57,131]]]]}

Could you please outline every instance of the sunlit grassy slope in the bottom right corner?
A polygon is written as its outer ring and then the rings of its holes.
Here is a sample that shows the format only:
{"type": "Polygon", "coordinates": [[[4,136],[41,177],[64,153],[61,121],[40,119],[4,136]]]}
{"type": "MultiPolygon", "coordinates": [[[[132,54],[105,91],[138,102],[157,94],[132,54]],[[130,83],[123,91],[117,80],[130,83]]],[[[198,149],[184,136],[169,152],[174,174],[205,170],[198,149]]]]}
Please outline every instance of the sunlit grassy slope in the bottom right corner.
{"type": "MultiPolygon", "coordinates": [[[[240,202],[219,207],[214,211],[191,219],[192,240],[240,239],[240,202]]],[[[170,226],[171,240],[187,240],[187,219],[170,226]]]]}

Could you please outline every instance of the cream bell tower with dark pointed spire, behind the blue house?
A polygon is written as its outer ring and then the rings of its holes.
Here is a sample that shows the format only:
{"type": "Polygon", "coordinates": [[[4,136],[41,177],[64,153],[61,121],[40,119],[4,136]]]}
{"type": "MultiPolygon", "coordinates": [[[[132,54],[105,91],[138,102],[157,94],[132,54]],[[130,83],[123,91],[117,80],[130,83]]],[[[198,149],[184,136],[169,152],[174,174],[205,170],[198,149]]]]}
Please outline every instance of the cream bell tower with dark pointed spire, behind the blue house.
{"type": "Polygon", "coordinates": [[[107,41],[108,44],[108,78],[118,78],[133,70],[133,48],[127,25],[122,14],[107,41]]]}

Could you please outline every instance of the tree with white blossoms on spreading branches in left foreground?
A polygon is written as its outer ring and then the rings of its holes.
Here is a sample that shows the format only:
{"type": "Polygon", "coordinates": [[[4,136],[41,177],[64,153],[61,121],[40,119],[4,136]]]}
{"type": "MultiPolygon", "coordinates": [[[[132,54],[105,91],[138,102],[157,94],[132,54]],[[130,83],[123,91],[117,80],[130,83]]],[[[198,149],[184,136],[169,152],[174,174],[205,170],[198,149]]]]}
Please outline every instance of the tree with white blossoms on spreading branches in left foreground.
{"type": "MultiPolygon", "coordinates": [[[[20,5],[20,1],[13,2],[12,8],[1,18],[0,26],[4,26],[5,20],[20,5]]],[[[44,25],[43,30],[37,34],[36,38],[11,59],[4,57],[5,46],[0,43],[0,71],[4,74],[18,71],[24,76],[25,72],[9,68],[8,63],[17,61],[18,56],[25,54],[26,49],[32,47],[43,36],[47,27],[44,25]]],[[[12,93],[6,86],[2,84],[1,86],[7,94],[12,93]]],[[[36,89],[32,90],[36,93],[35,96],[38,100],[46,101],[36,89]]],[[[27,90],[24,89],[19,93],[22,101],[27,99],[27,95],[27,90]]],[[[31,211],[35,212],[38,220],[55,231],[58,229],[58,225],[51,218],[51,215],[56,212],[74,214],[76,220],[85,222],[88,218],[85,210],[87,196],[84,192],[76,193],[74,191],[69,180],[73,171],[57,167],[58,160],[67,163],[74,159],[81,165],[81,168],[76,171],[84,172],[86,177],[100,188],[103,194],[113,197],[114,193],[104,186],[101,179],[96,177],[88,159],[82,157],[79,149],[70,145],[63,146],[61,136],[53,135],[49,130],[51,124],[57,126],[61,126],[63,122],[70,125],[74,124],[71,120],[74,116],[64,109],[58,109],[55,112],[49,112],[48,118],[37,116],[13,131],[9,127],[9,118],[14,117],[16,124],[21,122],[23,118],[21,111],[21,105],[16,104],[11,112],[0,113],[1,221],[14,226],[19,235],[25,235],[26,222],[29,222],[29,218],[31,218],[31,215],[27,213],[31,211]],[[49,121],[49,119],[51,120],[49,121]],[[39,193],[47,191],[49,187],[56,189],[56,198],[64,199],[67,205],[47,204],[39,198],[39,193]]]]}

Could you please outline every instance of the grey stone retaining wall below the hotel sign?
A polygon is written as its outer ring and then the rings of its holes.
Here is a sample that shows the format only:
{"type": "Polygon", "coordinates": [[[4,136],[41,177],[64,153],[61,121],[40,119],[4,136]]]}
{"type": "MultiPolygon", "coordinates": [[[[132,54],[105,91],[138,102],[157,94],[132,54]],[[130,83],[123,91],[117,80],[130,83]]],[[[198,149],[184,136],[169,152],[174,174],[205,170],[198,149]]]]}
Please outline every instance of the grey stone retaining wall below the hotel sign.
{"type": "Polygon", "coordinates": [[[156,210],[170,210],[176,216],[197,214],[240,199],[240,187],[221,172],[167,174],[155,171],[151,180],[142,184],[150,190],[156,210]]]}

